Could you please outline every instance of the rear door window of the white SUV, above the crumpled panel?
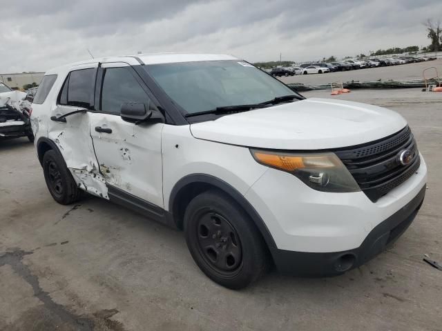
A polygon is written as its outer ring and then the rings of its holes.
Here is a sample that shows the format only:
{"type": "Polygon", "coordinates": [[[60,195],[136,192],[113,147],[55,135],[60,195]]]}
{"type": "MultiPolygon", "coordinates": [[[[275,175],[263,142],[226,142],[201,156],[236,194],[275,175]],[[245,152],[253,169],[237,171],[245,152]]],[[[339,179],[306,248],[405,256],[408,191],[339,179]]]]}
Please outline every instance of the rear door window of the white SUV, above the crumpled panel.
{"type": "Polygon", "coordinates": [[[95,68],[71,71],[61,88],[59,103],[90,108],[93,105],[95,68]]]}

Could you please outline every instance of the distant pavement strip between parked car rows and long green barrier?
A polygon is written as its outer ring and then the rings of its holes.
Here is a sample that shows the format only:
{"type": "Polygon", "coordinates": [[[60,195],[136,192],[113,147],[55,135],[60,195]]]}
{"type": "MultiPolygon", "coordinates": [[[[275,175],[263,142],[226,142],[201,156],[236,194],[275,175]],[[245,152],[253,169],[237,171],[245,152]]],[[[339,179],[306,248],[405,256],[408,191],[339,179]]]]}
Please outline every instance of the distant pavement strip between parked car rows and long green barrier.
{"type": "MultiPolygon", "coordinates": [[[[377,81],[378,79],[422,79],[425,68],[436,66],[442,76],[442,59],[434,61],[407,63],[398,66],[349,70],[344,72],[329,72],[327,74],[299,74],[297,76],[281,77],[284,83],[322,84],[333,81],[377,81]]],[[[428,72],[433,74],[434,72],[428,72]]]]}

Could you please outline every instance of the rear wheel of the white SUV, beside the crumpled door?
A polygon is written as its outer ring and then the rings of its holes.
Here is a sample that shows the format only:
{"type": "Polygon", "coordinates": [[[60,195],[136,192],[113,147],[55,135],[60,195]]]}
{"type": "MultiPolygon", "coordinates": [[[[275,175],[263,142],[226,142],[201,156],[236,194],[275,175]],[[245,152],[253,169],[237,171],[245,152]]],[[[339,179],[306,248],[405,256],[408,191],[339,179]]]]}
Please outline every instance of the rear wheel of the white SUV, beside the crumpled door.
{"type": "Polygon", "coordinates": [[[44,154],[43,172],[50,195],[61,205],[68,205],[83,197],[84,191],[77,187],[64,159],[55,150],[48,150],[44,154]]]}

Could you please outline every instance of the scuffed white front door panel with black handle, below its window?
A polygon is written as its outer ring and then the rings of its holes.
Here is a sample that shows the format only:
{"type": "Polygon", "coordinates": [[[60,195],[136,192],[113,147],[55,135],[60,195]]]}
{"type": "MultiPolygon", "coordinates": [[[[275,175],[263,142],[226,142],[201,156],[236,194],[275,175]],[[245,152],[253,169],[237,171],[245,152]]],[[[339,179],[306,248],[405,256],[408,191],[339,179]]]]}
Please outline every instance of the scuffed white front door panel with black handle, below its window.
{"type": "Polygon", "coordinates": [[[161,137],[163,123],[128,123],[113,114],[90,114],[90,134],[106,183],[164,207],[161,137]],[[97,132],[96,127],[111,129],[97,132]]]}

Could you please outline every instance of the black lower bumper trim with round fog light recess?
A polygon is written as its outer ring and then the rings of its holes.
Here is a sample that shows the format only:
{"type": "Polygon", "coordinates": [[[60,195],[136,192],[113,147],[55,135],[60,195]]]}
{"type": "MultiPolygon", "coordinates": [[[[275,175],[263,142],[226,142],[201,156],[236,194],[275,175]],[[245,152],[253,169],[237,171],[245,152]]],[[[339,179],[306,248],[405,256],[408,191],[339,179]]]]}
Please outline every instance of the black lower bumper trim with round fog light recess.
{"type": "Polygon", "coordinates": [[[270,248],[276,268],[282,273],[296,276],[326,277],[343,274],[363,265],[407,230],[421,208],[425,188],[426,185],[412,201],[379,223],[358,248],[326,253],[293,252],[270,248]]]}

